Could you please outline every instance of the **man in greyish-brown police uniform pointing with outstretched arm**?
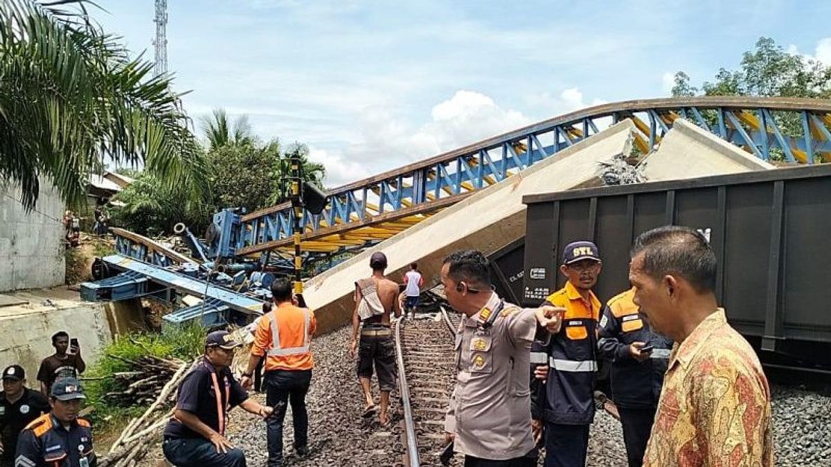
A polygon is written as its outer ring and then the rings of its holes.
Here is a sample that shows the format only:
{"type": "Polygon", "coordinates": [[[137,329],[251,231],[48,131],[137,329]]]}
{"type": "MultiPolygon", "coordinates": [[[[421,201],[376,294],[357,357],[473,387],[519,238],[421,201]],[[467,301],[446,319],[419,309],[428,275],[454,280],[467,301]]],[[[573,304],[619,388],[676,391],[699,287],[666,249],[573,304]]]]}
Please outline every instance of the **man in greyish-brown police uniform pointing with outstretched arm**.
{"type": "Polygon", "coordinates": [[[445,440],[465,467],[537,464],[531,435],[530,350],[558,308],[522,309],[491,289],[488,260],[475,250],[450,254],[441,268],[450,306],[461,312],[458,376],[445,419],[445,440]]]}

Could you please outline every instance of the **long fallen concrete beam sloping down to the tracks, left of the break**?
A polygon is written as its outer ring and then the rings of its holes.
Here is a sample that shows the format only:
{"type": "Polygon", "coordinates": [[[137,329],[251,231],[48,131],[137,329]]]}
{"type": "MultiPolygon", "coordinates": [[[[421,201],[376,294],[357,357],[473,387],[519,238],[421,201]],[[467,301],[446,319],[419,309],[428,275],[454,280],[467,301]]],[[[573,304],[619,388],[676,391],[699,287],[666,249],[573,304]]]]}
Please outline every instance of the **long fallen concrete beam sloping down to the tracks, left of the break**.
{"type": "Polygon", "coordinates": [[[332,331],[351,319],[354,282],[371,273],[371,253],[386,253],[389,278],[401,282],[401,274],[416,261],[425,284],[435,285],[447,254],[462,248],[489,254],[524,236],[525,194],[570,189],[595,178],[599,162],[621,154],[633,128],[629,120],[613,125],[312,278],[304,296],[317,310],[318,332],[332,331]]]}

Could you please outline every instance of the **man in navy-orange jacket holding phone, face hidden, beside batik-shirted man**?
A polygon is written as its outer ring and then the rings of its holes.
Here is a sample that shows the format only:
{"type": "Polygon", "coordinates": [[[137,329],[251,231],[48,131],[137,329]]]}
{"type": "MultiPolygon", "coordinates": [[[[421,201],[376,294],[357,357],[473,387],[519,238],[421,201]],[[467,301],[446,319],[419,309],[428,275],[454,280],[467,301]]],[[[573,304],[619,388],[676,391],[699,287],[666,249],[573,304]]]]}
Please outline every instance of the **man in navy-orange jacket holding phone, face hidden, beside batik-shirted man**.
{"type": "Polygon", "coordinates": [[[661,396],[671,339],[652,330],[633,302],[634,288],[612,297],[597,328],[597,353],[612,363],[612,401],[623,425],[629,467],[643,464],[661,396]]]}

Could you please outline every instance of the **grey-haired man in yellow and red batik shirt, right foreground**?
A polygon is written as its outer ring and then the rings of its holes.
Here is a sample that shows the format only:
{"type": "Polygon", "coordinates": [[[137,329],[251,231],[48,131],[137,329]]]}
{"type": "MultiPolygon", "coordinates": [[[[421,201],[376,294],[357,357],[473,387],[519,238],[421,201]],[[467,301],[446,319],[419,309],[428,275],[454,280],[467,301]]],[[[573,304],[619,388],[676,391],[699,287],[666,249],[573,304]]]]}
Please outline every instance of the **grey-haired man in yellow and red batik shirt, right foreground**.
{"type": "Polygon", "coordinates": [[[629,280],[670,355],[644,467],[773,466],[770,387],[715,300],[715,254],[684,227],[637,238],[629,280]]]}

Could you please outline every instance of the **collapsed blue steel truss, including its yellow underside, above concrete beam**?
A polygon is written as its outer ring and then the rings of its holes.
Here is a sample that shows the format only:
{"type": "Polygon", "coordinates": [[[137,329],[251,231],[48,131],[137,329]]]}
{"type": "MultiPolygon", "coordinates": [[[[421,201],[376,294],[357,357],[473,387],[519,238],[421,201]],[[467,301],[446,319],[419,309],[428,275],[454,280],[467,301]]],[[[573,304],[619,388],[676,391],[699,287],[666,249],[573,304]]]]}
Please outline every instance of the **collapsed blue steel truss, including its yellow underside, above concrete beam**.
{"type": "MultiPolygon", "coordinates": [[[[766,97],[691,97],[622,101],[589,107],[497,135],[415,164],[328,191],[322,214],[302,214],[302,250],[331,255],[361,248],[418,224],[476,190],[631,119],[634,146],[647,154],[674,121],[686,119],[763,160],[818,164],[831,160],[831,101],[766,97]]],[[[563,174],[568,176],[568,174],[563,174]]],[[[288,203],[250,214],[214,214],[224,258],[288,253],[288,203]]]]}

